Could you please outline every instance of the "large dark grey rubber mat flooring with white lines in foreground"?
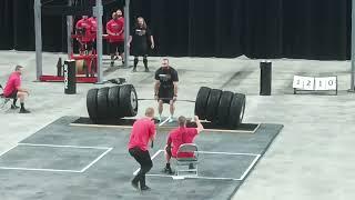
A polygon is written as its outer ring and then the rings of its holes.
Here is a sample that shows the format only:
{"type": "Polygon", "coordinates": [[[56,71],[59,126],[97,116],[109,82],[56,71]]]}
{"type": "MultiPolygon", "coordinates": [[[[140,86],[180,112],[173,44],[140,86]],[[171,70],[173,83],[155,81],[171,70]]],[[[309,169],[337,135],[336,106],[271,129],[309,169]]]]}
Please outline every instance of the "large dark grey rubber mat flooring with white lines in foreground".
{"type": "Polygon", "coordinates": [[[253,134],[201,132],[199,177],[184,180],[161,173],[169,131],[158,129],[146,177],[152,190],[140,193],[130,182],[139,169],[126,148],[130,129],[70,126],[78,119],[60,118],[0,156],[1,199],[230,199],[283,128],[262,123],[253,134]]]}

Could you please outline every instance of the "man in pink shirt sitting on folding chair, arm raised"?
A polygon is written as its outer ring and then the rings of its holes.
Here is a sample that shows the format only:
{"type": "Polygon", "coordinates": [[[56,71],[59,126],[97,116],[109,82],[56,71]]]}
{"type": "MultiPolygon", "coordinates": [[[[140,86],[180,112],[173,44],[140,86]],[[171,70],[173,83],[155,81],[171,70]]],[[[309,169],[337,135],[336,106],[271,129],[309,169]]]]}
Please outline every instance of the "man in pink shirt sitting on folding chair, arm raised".
{"type": "MultiPolygon", "coordinates": [[[[163,172],[173,174],[173,171],[170,167],[171,158],[191,158],[193,157],[192,153],[179,153],[178,150],[181,144],[184,143],[193,143],[194,138],[203,130],[203,126],[200,122],[197,116],[194,117],[194,120],[197,124],[197,128],[186,128],[186,118],[180,116],[178,119],[179,127],[170,131],[168,137],[168,142],[165,147],[165,158],[166,158],[166,166],[163,172]]],[[[193,168],[193,166],[190,166],[193,168]]]]}

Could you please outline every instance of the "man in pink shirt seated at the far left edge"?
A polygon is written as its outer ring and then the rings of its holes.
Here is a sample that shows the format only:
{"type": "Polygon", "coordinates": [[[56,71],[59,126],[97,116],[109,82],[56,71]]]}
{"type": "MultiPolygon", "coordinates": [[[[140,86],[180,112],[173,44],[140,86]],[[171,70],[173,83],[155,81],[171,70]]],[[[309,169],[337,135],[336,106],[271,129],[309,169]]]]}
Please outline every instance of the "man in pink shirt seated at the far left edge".
{"type": "Polygon", "coordinates": [[[27,89],[21,87],[22,68],[23,67],[21,66],[17,66],[14,68],[14,72],[11,73],[7,82],[7,86],[3,89],[3,96],[6,98],[13,99],[13,103],[11,106],[12,109],[19,108],[18,106],[16,106],[16,102],[18,99],[20,99],[20,103],[21,103],[20,113],[30,113],[29,110],[24,109],[24,98],[30,93],[27,89]]]}

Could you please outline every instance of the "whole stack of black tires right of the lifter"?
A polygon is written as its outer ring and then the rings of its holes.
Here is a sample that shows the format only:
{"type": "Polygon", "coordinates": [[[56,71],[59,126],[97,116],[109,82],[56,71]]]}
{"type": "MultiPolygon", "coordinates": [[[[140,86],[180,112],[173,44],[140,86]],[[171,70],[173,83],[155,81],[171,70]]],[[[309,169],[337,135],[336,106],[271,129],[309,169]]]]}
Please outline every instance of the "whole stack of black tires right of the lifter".
{"type": "Polygon", "coordinates": [[[245,94],[201,87],[195,114],[223,128],[236,129],[243,120],[245,94]]]}

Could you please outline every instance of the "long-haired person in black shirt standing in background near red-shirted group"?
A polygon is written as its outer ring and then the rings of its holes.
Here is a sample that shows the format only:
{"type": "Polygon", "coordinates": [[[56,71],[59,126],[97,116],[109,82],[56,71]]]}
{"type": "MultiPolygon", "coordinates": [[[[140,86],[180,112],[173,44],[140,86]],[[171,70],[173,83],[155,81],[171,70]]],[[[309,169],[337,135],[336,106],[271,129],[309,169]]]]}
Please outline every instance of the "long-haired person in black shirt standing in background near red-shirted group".
{"type": "Polygon", "coordinates": [[[144,19],[142,17],[136,18],[136,23],[131,30],[131,36],[128,41],[128,47],[131,47],[132,42],[132,54],[134,56],[134,67],[133,72],[136,71],[138,57],[143,57],[143,63],[145,67],[145,71],[149,71],[148,68],[148,49],[149,44],[151,49],[154,49],[154,39],[153,36],[148,28],[144,19]]]}

